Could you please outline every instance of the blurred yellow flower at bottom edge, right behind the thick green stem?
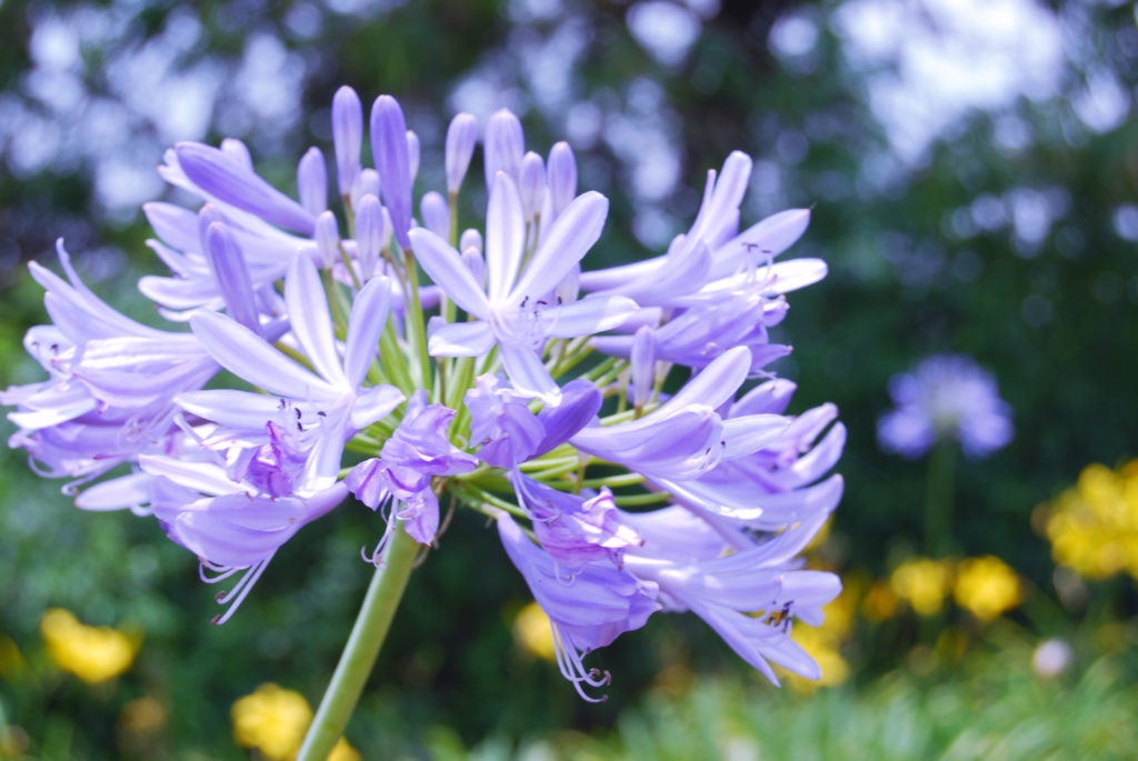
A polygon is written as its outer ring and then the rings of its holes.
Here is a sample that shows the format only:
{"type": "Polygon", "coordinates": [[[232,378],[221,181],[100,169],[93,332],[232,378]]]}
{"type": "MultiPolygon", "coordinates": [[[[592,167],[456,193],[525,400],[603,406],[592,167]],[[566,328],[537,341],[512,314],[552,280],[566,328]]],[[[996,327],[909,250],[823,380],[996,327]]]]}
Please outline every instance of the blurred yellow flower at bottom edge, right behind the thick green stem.
{"type": "MultiPolygon", "coordinates": [[[[272,761],[289,761],[304,743],[312,709],[300,693],[267,683],[238,698],[230,717],[238,745],[254,747],[272,761]]],[[[360,752],[340,737],[328,759],[360,761],[360,752]]]]}

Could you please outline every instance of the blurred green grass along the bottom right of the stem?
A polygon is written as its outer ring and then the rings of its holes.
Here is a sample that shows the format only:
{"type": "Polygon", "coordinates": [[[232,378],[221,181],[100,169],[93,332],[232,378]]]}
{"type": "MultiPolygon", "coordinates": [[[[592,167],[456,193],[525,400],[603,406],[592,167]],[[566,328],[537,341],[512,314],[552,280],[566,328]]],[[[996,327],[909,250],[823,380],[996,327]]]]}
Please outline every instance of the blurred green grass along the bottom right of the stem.
{"type": "Polygon", "coordinates": [[[811,695],[758,679],[696,680],[683,695],[651,694],[601,735],[563,733],[513,747],[490,738],[471,751],[446,731],[438,759],[1132,759],[1138,686],[1121,655],[1099,656],[1053,680],[1038,678],[1026,645],[970,655],[955,668],[898,670],[811,695]]]}

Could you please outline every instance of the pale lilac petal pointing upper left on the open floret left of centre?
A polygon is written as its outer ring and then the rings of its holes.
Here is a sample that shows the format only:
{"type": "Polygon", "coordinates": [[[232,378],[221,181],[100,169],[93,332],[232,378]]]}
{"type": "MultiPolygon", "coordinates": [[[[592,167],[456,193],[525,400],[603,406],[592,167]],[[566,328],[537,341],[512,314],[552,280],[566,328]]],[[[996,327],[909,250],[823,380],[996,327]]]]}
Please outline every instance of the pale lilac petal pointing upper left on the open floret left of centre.
{"type": "Polygon", "coordinates": [[[201,346],[234,375],[291,399],[332,399],[337,389],[266,344],[248,328],[216,312],[199,312],[190,328],[201,346]]]}

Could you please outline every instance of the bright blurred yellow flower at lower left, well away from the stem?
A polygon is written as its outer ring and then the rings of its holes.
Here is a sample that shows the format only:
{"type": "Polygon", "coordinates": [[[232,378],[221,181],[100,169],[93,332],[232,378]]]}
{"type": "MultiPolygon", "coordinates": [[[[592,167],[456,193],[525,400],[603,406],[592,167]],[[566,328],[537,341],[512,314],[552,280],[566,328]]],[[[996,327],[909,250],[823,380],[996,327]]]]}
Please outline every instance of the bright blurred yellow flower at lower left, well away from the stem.
{"type": "Polygon", "coordinates": [[[84,626],[61,607],[43,614],[40,635],[56,665],[92,685],[129,669],[141,644],[140,637],[112,627],[84,626]]]}

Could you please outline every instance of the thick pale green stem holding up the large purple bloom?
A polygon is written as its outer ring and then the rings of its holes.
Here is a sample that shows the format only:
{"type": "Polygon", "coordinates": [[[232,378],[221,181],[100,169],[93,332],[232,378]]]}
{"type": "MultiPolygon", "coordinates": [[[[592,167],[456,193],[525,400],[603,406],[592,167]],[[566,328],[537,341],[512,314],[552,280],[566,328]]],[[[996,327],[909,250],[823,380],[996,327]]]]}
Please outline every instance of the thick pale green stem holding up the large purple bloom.
{"type": "Polygon", "coordinates": [[[324,692],[296,761],[325,761],[344,735],[391,627],[418,553],[419,545],[407,536],[401,523],[387,543],[382,565],[371,579],[352,635],[336,665],[336,673],[324,692]]]}

